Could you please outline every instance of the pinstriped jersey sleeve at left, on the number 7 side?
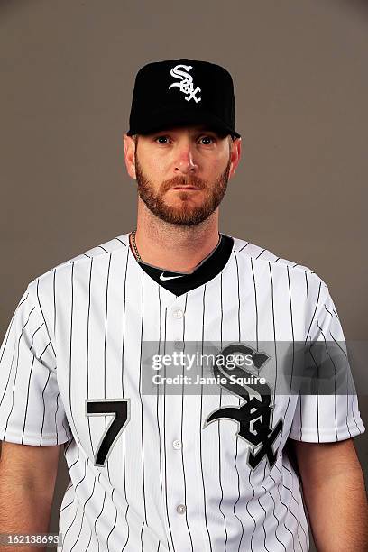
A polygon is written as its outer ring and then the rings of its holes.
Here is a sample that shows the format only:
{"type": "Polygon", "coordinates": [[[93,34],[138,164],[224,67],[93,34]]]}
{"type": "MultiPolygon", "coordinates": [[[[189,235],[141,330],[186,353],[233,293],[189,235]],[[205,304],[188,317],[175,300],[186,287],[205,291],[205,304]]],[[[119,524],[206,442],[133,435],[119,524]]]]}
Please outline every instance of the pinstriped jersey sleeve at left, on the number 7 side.
{"type": "Polygon", "coordinates": [[[31,282],[0,347],[0,440],[50,446],[70,438],[56,354],[31,282]]]}

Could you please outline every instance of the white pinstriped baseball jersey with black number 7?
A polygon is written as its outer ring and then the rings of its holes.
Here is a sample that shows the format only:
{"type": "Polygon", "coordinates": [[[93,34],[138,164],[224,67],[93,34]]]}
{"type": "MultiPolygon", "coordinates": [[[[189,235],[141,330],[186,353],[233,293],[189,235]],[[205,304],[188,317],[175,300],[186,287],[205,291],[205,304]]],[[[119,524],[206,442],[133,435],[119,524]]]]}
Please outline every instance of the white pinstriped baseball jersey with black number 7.
{"type": "Polygon", "coordinates": [[[143,344],[271,342],[277,359],[281,341],[328,340],[343,330],[307,267],[234,238],[224,268],[177,296],[120,235],[24,291],[0,349],[0,439],[64,444],[64,552],[306,552],[284,445],[363,433],[356,395],[274,394],[257,421],[222,385],[143,393],[143,344]]]}

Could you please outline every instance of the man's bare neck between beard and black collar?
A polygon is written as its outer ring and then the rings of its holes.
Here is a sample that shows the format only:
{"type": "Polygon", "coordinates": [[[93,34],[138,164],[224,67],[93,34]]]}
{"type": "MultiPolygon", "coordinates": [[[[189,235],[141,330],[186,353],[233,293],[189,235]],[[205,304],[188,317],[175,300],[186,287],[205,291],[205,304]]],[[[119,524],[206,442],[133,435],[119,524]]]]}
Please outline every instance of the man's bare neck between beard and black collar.
{"type": "Polygon", "coordinates": [[[192,226],[170,225],[156,216],[138,216],[135,244],[143,262],[166,271],[193,271],[216,248],[218,240],[217,212],[192,226]]]}

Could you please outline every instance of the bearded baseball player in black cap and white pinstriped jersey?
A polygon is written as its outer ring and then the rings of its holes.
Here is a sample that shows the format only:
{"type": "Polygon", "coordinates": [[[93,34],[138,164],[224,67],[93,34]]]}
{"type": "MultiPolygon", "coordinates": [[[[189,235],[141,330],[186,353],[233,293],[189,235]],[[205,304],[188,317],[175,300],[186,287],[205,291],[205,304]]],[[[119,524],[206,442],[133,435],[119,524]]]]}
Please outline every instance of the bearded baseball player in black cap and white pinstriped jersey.
{"type": "Polygon", "coordinates": [[[136,229],[31,281],[5,333],[0,532],[47,531],[62,446],[63,552],[306,552],[307,512],[318,550],[363,551],[364,426],[327,283],[218,230],[241,155],[228,71],[140,69],[124,155],[136,229]]]}

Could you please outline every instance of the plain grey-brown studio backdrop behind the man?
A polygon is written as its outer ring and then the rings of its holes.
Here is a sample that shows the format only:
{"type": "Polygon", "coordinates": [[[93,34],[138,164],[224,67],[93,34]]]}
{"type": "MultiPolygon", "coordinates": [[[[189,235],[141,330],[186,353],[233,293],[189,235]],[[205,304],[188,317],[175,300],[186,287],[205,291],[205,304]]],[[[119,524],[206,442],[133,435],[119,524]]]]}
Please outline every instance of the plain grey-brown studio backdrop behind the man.
{"type": "MultiPolygon", "coordinates": [[[[29,281],[133,229],[135,73],[188,57],[235,79],[243,161],[220,229],[317,271],[346,340],[366,340],[367,27],[358,0],[2,0],[0,337],[29,281]]],[[[51,530],[67,483],[60,458],[51,530]]]]}

